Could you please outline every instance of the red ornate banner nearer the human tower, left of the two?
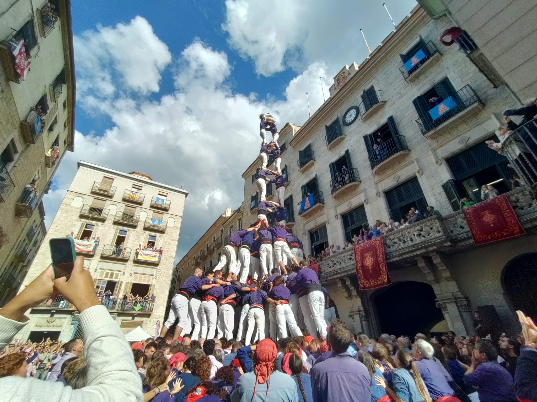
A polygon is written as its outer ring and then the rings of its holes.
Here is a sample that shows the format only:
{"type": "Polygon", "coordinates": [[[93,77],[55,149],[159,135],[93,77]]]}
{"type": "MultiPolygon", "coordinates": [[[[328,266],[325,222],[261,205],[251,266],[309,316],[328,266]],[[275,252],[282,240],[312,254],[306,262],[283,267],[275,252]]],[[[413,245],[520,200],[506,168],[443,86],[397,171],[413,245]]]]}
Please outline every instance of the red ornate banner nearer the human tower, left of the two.
{"type": "Polygon", "coordinates": [[[355,245],[354,263],[362,291],[391,284],[382,236],[355,245]]]}

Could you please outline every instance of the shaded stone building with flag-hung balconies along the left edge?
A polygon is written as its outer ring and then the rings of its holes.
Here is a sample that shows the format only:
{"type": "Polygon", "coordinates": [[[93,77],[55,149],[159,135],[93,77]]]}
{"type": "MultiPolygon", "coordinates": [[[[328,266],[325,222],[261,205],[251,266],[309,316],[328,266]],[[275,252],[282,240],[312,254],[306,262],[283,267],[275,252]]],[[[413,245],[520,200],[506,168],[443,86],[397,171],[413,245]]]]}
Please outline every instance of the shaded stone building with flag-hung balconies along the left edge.
{"type": "Polygon", "coordinates": [[[20,286],[46,233],[41,203],[74,150],[69,0],[0,5],[0,306],[20,286]],[[24,43],[25,50],[17,48],[24,43]],[[17,71],[13,52],[29,69],[17,71]],[[34,186],[30,187],[30,184],[34,186]]]}

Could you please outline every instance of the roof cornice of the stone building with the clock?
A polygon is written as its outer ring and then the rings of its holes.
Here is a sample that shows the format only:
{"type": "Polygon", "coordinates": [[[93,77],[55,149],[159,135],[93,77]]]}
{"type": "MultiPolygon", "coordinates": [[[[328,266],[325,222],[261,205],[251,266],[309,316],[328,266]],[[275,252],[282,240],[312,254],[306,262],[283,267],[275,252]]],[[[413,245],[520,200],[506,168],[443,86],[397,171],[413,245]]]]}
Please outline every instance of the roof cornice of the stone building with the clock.
{"type": "Polygon", "coordinates": [[[429,20],[425,10],[417,5],[401,23],[390,32],[388,36],[377,46],[372,53],[359,66],[358,71],[351,76],[349,81],[318,108],[315,113],[296,131],[293,139],[289,142],[293,148],[307,140],[320,126],[323,126],[329,118],[350,96],[352,96],[364,81],[369,79],[380,65],[389,62],[391,53],[400,46],[400,38],[419,31],[419,28],[429,20]]]}

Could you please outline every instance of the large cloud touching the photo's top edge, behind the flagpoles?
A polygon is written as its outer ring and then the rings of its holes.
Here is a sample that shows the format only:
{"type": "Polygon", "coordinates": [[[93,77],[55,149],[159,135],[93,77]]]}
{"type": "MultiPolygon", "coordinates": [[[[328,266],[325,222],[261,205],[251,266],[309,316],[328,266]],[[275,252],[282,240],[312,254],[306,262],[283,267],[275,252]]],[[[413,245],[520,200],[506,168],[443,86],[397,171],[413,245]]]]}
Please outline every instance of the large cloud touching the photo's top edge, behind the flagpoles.
{"type": "MultiPolygon", "coordinates": [[[[416,6],[415,0],[387,2],[395,23],[416,6]]],[[[270,76],[287,66],[302,71],[324,61],[329,73],[367,57],[359,29],[364,29],[369,47],[378,45],[393,29],[382,3],[376,0],[226,0],[229,44],[256,71],[270,76]]]]}

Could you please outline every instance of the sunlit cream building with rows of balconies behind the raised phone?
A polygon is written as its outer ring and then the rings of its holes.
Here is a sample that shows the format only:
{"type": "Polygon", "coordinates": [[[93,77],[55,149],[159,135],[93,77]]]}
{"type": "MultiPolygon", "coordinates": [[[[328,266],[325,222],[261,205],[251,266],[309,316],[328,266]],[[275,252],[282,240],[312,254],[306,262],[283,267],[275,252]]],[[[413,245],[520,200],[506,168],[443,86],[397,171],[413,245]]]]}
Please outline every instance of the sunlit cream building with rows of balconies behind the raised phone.
{"type": "MultiPolygon", "coordinates": [[[[141,173],[127,174],[79,162],[22,288],[50,264],[48,241],[72,232],[77,255],[84,256],[84,267],[90,271],[96,290],[119,295],[117,302],[103,300],[103,304],[124,332],[141,326],[154,334],[163,324],[187,195],[183,189],[155,182],[141,173]],[[162,248],[162,255],[139,250],[147,246],[162,248]],[[135,308],[136,304],[122,299],[125,293],[142,297],[155,293],[156,300],[135,308]]],[[[78,334],[76,310],[61,296],[51,307],[42,303],[33,308],[29,316],[30,323],[19,338],[68,340],[78,334]]]]}

